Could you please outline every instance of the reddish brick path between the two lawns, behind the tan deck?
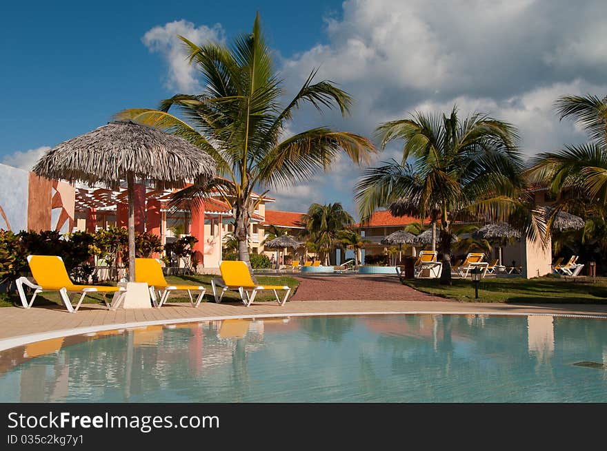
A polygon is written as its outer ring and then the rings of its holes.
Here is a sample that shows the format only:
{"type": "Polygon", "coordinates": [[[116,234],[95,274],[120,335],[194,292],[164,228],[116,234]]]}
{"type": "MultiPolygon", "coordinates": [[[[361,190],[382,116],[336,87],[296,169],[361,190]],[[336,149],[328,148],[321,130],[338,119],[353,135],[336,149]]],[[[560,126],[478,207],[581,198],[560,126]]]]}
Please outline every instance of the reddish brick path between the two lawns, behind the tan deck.
{"type": "Polygon", "coordinates": [[[426,295],[401,284],[395,275],[311,275],[295,278],[300,285],[292,297],[294,301],[446,301],[444,297],[426,295]]]}

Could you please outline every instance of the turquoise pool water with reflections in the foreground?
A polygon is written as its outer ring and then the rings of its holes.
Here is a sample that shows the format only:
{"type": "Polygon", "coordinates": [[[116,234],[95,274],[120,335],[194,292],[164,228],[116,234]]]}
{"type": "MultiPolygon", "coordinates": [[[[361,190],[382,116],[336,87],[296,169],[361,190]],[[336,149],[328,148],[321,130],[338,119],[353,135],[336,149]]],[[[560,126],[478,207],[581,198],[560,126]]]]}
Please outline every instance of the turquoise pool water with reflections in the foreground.
{"type": "Polygon", "coordinates": [[[0,401],[605,402],[605,368],[601,319],[232,319],[2,351],[0,401]]]}

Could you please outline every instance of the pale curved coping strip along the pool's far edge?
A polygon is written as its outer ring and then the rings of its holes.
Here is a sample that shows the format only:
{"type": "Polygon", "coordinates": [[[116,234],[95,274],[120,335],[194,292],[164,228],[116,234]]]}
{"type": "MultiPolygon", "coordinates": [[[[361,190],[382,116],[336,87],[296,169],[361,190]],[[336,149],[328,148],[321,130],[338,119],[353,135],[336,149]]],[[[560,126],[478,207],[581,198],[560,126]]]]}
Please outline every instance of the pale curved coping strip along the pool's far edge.
{"type": "Polygon", "coordinates": [[[26,344],[43,342],[48,339],[71,337],[87,333],[103,331],[115,331],[118,329],[132,329],[147,326],[161,326],[171,324],[185,324],[206,321],[222,321],[223,319],[265,319],[284,317],[313,317],[313,316],[361,316],[361,315],[492,315],[492,316],[551,316],[551,317],[573,317],[582,319],[607,319],[607,315],[589,315],[587,313],[525,313],[525,312],[500,312],[488,313],[486,311],[368,311],[368,312],[299,312],[299,313],[257,313],[255,315],[219,315],[203,316],[179,319],[156,319],[154,321],[128,322],[103,324],[99,326],[86,326],[70,329],[59,329],[28,335],[17,335],[16,337],[0,339],[0,352],[25,346],[26,344]]]}

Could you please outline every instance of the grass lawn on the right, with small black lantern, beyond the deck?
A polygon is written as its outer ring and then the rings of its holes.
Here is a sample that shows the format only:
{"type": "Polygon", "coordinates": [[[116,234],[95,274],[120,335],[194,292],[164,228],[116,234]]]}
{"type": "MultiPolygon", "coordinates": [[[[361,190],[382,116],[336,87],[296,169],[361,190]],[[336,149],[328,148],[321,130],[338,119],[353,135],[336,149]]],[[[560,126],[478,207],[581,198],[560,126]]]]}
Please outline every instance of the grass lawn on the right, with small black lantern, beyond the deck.
{"type": "Polygon", "coordinates": [[[423,293],[465,302],[511,302],[533,304],[607,304],[607,277],[597,282],[572,282],[559,277],[486,278],[479,282],[479,299],[475,299],[470,279],[453,279],[451,286],[437,279],[412,279],[406,284],[423,293]]]}

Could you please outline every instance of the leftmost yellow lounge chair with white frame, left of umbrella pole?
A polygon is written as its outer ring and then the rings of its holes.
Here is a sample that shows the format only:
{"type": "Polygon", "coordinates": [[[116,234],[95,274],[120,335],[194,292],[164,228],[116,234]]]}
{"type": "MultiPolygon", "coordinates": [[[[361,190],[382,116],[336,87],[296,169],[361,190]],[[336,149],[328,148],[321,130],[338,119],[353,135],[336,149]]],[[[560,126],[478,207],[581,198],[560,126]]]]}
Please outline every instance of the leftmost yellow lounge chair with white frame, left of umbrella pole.
{"type": "Polygon", "coordinates": [[[63,259],[57,255],[28,255],[28,264],[36,283],[30,282],[28,277],[19,277],[17,279],[17,292],[21,298],[23,308],[30,308],[34,304],[34,299],[36,299],[38,293],[42,293],[43,291],[59,291],[59,296],[70,313],[78,311],[80,304],[82,304],[84,297],[88,293],[103,294],[103,302],[106,303],[108,310],[115,310],[114,306],[120,303],[124,293],[115,295],[111,305],[108,304],[106,295],[108,293],[126,292],[126,289],[117,286],[74,285],[72,280],[70,280],[68,271],[66,271],[66,265],[63,264],[63,259]],[[28,302],[23,285],[34,289],[34,295],[32,295],[30,302],[28,302]],[[74,293],[72,301],[70,301],[68,293],[74,293]],[[74,307],[72,302],[76,300],[78,293],[82,294],[78,304],[74,307]]]}

